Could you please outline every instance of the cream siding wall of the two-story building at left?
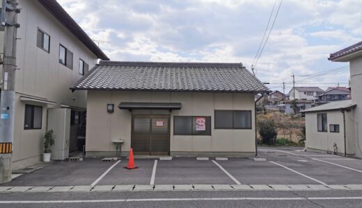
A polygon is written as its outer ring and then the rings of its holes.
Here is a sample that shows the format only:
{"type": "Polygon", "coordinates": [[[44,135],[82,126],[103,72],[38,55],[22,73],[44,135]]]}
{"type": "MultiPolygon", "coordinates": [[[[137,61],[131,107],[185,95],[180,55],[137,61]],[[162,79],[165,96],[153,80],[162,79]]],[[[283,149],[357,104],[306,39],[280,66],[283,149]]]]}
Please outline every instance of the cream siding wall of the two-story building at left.
{"type": "MultiPolygon", "coordinates": [[[[17,40],[17,68],[19,69],[16,71],[15,80],[13,168],[40,161],[43,137],[47,130],[47,107],[60,107],[61,104],[86,107],[86,92],[72,93],[69,88],[81,78],[78,70],[79,58],[89,64],[89,69],[97,63],[97,57],[38,1],[19,0],[19,8],[22,10],[18,16],[20,28],[17,30],[19,38],[17,40]],[[36,46],[38,28],[50,36],[49,53],[36,46]],[[58,62],[59,44],[72,51],[73,69],[58,62]],[[24,130],[26,103],[19,101],[19,96],[56,102],[56,105],[29,103],[43,107],[41,130],[24,130]]],[[[2,51],[3,37],[0,48],[2,51]]]]}

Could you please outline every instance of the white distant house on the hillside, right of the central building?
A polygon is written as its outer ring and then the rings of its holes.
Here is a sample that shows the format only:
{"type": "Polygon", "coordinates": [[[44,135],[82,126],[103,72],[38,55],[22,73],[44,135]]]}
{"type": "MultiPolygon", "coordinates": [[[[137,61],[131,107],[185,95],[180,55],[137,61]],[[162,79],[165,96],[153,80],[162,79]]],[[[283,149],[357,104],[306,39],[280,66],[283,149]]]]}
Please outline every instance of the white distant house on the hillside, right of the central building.
{"type": "Polygon", "coordinates": [[[293,87],[290,89],[290,100],[310,100],[315,101],[316,96],[321,94],[323,89],[320,87],[293,87]],[[294,95],[295,93],[295,95],[294,95]]]}

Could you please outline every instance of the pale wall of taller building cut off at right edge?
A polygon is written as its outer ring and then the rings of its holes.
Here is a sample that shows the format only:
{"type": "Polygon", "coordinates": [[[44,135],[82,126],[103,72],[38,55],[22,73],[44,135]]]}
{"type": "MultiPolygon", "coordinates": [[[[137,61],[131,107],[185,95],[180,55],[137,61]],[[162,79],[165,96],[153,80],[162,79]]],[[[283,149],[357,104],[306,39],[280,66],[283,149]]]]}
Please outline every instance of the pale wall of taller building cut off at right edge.
{"type": "Polygon", "coordinates": [[[351,74],[352,103],[356,104],[354,125],[356,157],[362,157],[362,55],[349,61],[351,74]]]}

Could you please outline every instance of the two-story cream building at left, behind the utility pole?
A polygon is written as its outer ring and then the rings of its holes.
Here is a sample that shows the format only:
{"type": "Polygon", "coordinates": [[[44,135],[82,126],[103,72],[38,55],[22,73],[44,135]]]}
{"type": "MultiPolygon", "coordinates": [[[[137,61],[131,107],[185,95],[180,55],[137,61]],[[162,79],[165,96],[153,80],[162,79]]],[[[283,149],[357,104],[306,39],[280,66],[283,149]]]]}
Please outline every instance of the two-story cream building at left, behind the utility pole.
{"type": "MultiPolygon", "coordinates": [[[[13,168],[40,161],[45,132],[58,126],[63,114],[67,132],[55,129],[56,137],[68,139],[68,149],[77,149],[86,92],[69,87],[98,59],[109,60],[55,0],[19,0],[18,8],[13,168]]],[[[1,31],[0,52],[3,36],[1,31]]]]}

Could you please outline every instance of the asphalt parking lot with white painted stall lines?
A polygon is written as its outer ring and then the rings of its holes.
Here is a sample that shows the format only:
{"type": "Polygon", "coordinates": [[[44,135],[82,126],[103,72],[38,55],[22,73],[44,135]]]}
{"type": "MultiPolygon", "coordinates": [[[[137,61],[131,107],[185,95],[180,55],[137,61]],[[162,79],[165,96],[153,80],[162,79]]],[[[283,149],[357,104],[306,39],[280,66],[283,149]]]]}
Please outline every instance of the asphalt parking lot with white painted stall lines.
{"type": "Polygon", "coordinates": [[[57,162],[23,174],[12,182],[17,186],[94,186],[121,184],[362,184],[362,160],[302,152],[298,148],[260,148],[259,157],[197,160],[136,159],[139,168],[127,170],[127,159],[102,162],[57,162]],[[156,162],[157,161],[157,162],[156,162]]]}

